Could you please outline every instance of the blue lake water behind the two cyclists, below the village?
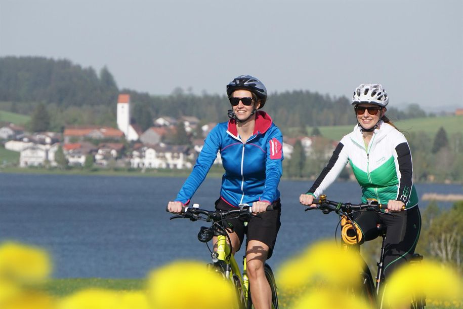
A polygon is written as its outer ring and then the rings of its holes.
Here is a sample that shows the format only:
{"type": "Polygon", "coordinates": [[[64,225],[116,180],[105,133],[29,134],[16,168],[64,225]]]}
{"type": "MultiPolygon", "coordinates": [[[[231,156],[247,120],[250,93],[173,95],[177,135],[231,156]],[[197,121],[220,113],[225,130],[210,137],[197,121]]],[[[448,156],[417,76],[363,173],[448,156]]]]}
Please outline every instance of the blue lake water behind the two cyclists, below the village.
{"type": "MultiPolygon", "coordinates": [[[[196,235],[205,222],[170,221],[167,201],[184,178],[28,175],[0,173],[0,242],[39,245],[53,257],[56,278],[140,278],[154,267],[180,258],[208,261],[196,235]]],[[[269,263],[278,264],[313,241],[333,237],[333,214],[304,212],[298,203],[311,183],[282,180],[282,226],[269,263]]],[[[417,184],[426,192],[461,194],[461,185],[417,184]]],[[[206,179],[193,202],[213,209],[220,179],[206,179]]],[[[359,202],[355,182],[336,182],[332,200],[359,202]]],[[[425,208],[427,202],[421,202],[425,208]]],[[[451,203],[439,203],[450,207],[451,203]]],[[[244,250],[237,253],[241,259],[244,250]]]]}

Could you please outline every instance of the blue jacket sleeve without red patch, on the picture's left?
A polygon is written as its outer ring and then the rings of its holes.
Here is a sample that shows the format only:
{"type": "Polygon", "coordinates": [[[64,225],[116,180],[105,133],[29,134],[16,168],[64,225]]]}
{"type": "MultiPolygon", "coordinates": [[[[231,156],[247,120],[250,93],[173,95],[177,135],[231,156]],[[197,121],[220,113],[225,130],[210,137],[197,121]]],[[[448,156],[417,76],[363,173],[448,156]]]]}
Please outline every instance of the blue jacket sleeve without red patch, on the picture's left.
{"type": "Polygon", "coordinates": [[[204,146],[202,147],[198,159],[196,160],[196,164],[194,165],[190,176],[188,176],[187,180],[185,180],[185,183],[180,189],[175,201],[179,201],[185,205],[188,205],[190,199],[193,197],[198,187],[204,181],[204,178],[206,178],[207,172],[214,164],[214,160],[217,158],[217,152],[219,151],[220,144],[220,128],[219,126],[216,126],[207,135],[204,141],[204,146]]]}

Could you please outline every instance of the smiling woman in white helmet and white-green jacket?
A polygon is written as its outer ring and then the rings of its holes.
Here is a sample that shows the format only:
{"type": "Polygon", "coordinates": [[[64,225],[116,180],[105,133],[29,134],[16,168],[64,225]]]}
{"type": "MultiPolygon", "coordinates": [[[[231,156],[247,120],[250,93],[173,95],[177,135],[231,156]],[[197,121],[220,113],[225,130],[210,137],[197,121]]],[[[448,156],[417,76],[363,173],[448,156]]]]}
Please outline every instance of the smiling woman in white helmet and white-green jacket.
{"type": "Polygon", "coordinates": [[[421,228],[410,148],[405,136],[385,115],[388,101],[381,84],[362,84],[355,90],[352,105],[358,125],[343,137],[320,176],[299,199],[303,205],[316,206],[313,199],[323,193],[349,162],[362,187],[362,203],[375,199],[388,205],[383,213],[359,212],[355,218],[363,234],[361,243],[379,236],[377,224],[387,227],[385,277],[410,260],[421,228]]]}

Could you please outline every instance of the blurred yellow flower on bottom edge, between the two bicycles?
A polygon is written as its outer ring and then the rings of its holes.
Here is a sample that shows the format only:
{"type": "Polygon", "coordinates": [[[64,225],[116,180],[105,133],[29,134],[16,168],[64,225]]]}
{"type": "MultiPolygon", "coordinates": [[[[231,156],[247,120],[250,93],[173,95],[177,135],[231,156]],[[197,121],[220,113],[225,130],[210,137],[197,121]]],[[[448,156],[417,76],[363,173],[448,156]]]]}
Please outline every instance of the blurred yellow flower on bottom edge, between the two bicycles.
{"type": "Polygon", "coordinates": [[[333,295],[332,291],[308,292],[291,305],[293,309],[373,309],[362,298],[344,293],[333,295]]]}

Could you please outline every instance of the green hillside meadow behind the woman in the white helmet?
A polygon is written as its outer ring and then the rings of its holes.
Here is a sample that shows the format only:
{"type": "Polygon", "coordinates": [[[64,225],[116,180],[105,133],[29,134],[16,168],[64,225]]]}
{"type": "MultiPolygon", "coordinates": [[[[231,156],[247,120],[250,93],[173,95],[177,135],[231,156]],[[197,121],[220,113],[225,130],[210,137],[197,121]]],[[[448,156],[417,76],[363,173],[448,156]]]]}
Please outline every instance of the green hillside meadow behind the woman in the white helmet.
{"type": "MultiPolygon", "coordinates": [[[[440,127],[443,127],[447,134],[463,132],[463,116],[453,115],[407,119],[394,122],[394,125],[404,133],[424,131],[430,137],[434,138],[440,127]]],[[[354,126],[355,124],[348,126],[322,126],[318,127],[318,129],[324,137],[339,141],[344,135],[350,133],[354,126]]],[[[313,128],[308,127],[307,130],[311,133],[313,128]]]]}

